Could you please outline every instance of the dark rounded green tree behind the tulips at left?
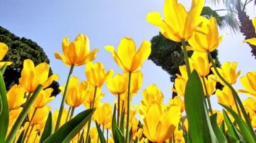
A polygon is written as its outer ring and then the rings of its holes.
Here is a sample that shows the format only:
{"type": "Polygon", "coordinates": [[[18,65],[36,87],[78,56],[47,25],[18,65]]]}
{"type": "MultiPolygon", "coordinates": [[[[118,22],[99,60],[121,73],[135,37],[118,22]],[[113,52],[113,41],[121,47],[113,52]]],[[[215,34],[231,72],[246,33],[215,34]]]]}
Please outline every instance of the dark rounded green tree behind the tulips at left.
{"type": "MultiPolygon", "coordinates": [[[[7,90],[9,90],[12,85],[19,83],[24,60],[30,58],[35,65],[40,64],[41,62],[50,63],[49,58],[44,53],[44,50],[38,46],[36,42],[26,38],[19,38],[1,26],[0,42],[7,44],[9,47],[3,61],[13,62],[11,65],[7,66],[3,75],[7,90]]],[[[50,68],[49,76],[51,75],[53,75],[53,71],[50,68]]],[[[54,89],[52,95],[56,96],[59,94],[59,83],[54,81],[50,87],[54,89]]]]}

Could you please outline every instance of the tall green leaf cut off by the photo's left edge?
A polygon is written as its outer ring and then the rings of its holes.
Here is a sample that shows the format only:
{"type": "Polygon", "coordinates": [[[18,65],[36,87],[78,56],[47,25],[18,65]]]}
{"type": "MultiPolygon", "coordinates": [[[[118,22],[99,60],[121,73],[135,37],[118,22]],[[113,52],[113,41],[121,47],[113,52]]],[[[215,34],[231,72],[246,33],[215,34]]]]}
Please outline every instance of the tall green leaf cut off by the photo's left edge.
{"type": "Polygon", "coordinates": [[[0,71],[0,97],[1,97],[1,114],[0,114],[0,142],[5,142],[9,124],[9,105],[6,97],[5,81],[0,71]]]}

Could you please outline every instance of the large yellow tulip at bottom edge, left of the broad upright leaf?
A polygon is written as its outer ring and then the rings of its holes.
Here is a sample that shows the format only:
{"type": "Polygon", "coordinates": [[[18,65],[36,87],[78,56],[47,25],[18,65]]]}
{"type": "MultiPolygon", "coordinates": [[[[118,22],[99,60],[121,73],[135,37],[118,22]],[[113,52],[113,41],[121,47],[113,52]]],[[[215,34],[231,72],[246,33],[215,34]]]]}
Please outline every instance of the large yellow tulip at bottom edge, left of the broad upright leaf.
{"type": "Polygon", "coordinates": [[[178,128],[180,119],[179,106],[172,105],[164,111],[160,103],[155,102],[143,118],[143,133],[152,142],[164,142],[178,128]]]}

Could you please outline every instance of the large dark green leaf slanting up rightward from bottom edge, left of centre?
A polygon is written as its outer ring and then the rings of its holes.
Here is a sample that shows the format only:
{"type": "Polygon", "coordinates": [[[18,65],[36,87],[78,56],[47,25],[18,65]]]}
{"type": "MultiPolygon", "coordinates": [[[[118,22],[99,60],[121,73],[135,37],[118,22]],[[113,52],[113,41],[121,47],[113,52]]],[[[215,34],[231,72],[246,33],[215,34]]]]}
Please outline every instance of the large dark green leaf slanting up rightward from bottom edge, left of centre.
{"type": "Polygon", "coordinates": [[[90,120],[94,110],[95,109],[87,109],[78,113],[73,119],[69,120],[69,122],[61,126],[54,134],[44,140],[44,142],[56,142],[56,140],[58,140],[58,142],[70,142],[73,137],[84,128],[88,120],[90,120]]]}

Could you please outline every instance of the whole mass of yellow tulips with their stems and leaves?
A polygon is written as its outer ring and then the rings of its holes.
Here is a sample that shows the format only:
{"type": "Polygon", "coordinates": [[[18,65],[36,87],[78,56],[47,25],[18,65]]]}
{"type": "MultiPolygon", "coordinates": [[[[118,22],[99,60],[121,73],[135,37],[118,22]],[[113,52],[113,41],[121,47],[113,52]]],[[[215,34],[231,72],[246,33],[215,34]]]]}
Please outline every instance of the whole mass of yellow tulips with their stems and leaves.
{"type": "MultiPolygon", "coordinates": [[[[182,42],[185,65],[180,66],[181,75],[172,89],[178,96],[167,105],[156,85],[143,89],[140,105],[131,105],[142,85],[140,68],[150,55],[149,41],[143,41],[138,50],[131,38],[123,38],[117,51],[105,46],[123,70],[114,75],[102,63],[92,62],[98,49],[90,51],[86,35],[79,34],[74,42],[64,38],[63,54],[55,52],[55,57],[70,70],[65,86],[60,87],[60,108],[53,114],[47,105],[55,98],[49,85],[59,76],[49,77],[49,64],[35,66],[32,60],[24,60],[19,84],[5,91],[1,75],[11,62],[0,62],[0,142],[255,142],[256,72],[242,76],[244,89],[235,90],[232,85],[241,73],[237,63],[216,67],[210,52],[218,48],[223,36],[218,34],[214,17],[200,16],[203,5],[203,0],[193,0],[186,11],[177,0],[166,0],[164,18],[159,12],[147,15],[166,38],[182,42]],[[187,50],[193,50],[191,58],[187,50]],[[72,75],[73,68],[82,65],[86,66],[87,81],[72,75]],[[209,75],[210,69],[214,74],[209,75]],[[223,89],[216,89],[217,82],[223,89]],[[116,102],[102,103],[105,83],[116,102]],[[238,93],[250,97],[241,101],[238,93]],[[223,111],[213,109],[210,97],[214,95],[223,111]],[[86,110],[73,115],[80,105],[86,110]]],[[[256,19],[253,25],[256,27],[256,19]]],[[[255,39],[245,42],[256,44],[255,39]]],[[[0,60],[7,50],[7,45],[0,43],[0,60]]]]}

